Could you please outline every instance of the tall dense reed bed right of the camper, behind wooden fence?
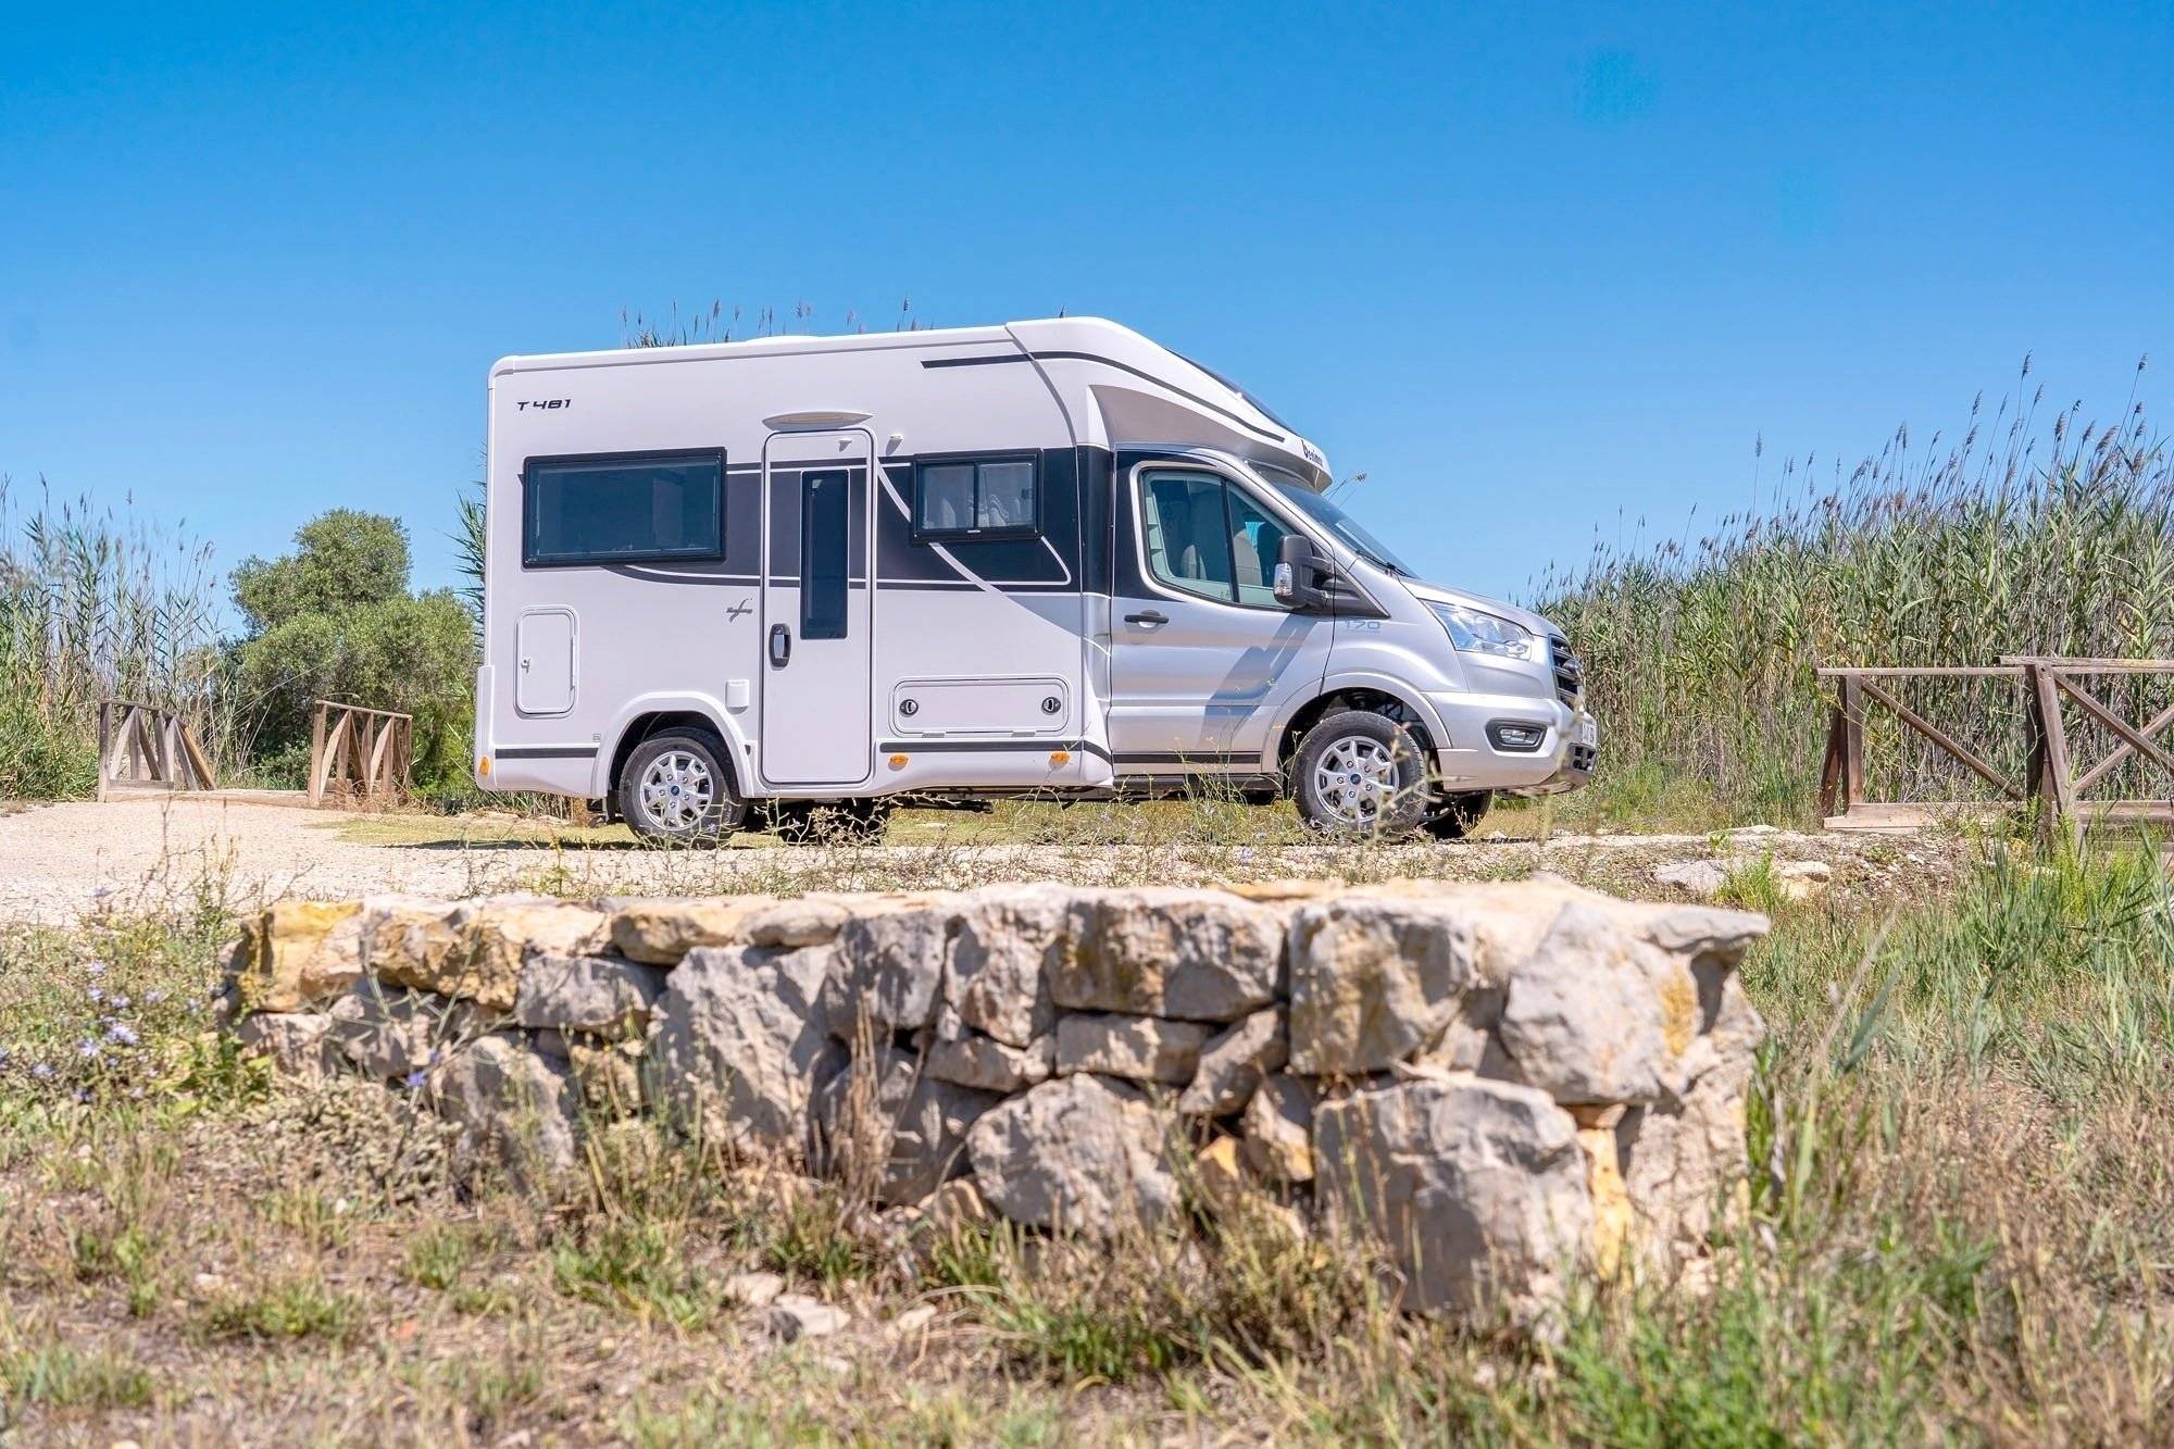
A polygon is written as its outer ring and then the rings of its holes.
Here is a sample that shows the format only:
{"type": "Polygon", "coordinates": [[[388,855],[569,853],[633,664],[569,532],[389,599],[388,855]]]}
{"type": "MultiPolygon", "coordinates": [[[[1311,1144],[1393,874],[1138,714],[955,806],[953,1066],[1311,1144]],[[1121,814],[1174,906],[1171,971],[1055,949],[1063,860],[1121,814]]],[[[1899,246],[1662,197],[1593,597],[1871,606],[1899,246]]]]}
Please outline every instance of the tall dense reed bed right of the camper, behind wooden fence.
{"type": "MultiPolygon", "coordinates": [[[[2028,376],[2026,359],[2022,387],[2028,376]]],[[[2174,459],[2135,392],[2109,424],[2081,403],[2046,418],[2044,387],[1989,416],[1983,403],[1959,437],[1917,444],[1904,426],[1854,468],[1789,461],[1770,505],[1696,542],[1600,542],[1539,579],[1537,607],[1585,655],[1617,798],[1689,794],[1715,825],[1811,818],[1828,703],[1817,666],[2174,655],[2174,459]]],[[[2170,694],[2165,679],[2109,688],[2144,716],[2170,694]]],[[[1907,690],[1913,709],[2020,775],[2017,685],[1907,690]]],[[[1867,759],[1894,798],[1983,792],[1885,711],[1867,759]]],[[[2167,792],[2137,770],[2109,792],[2122,785],[2167,792]]]]}

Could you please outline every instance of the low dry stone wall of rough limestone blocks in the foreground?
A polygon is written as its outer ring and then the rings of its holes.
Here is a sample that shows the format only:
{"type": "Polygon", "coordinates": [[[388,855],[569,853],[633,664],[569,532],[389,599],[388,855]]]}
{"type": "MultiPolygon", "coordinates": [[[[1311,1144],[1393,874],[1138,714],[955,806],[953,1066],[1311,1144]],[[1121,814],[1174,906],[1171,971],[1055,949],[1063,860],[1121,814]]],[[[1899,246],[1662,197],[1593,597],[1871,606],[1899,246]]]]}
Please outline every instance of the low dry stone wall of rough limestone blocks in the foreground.
{"type": "Polygon", "coordinates": [[[1424,1312],[1667,1271],[1746,1171],[1763,916],[1563,881],[283,903],[241,1042],[550,1190],[644,1116],[883,1203],[1365,1234],[1424,1312]]]}

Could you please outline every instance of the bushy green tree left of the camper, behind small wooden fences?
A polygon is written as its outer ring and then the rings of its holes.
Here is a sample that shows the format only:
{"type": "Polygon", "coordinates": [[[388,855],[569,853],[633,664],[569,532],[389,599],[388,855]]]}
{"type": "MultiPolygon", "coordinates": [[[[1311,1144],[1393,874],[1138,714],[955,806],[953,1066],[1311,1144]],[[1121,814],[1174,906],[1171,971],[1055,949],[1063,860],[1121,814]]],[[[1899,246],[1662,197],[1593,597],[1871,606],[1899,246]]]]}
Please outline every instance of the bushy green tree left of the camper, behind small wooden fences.
{"type": "Polygon", "coordinates": [[[467,772],[476,640],[450,590],[409,592],[407,529],[396,518],[333,509],[304,524],[296,550],[235,570],[250,635],[235,646],[241,696],[257,707],[257,755],[298,775],[311,701],[335,698],[415,716],[415,781],[467,772]]]}

